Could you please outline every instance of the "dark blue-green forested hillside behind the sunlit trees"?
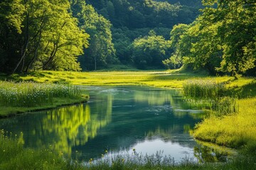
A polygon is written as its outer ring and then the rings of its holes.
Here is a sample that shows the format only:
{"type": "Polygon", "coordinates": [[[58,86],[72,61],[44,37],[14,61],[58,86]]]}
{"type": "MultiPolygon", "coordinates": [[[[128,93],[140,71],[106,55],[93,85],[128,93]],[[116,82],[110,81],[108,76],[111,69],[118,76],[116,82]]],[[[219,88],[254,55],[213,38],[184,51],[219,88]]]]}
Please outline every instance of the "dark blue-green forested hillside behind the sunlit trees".
{"type": "MultiPolygon", "coordinates": [[[[196,3],[201,4],[201,1],[196,3]]],[[[113,43],[116,56],[122,64],[134,64],[132,61],[132,42],[136,38],[142,38],[154,30],[157,35],[169,39],[171,28],[176,23],[191,23],[198,15],[200,5],[193,3],[183,4],[193,6],[181,6],[178,1],[153,1],[153,0],[88,0],[96,11],[109,19],[113,25],[113,43]]],[[[89,49],[88,49],[89,50],[89,49]]],[[[158,63],[163,67],[161,62],[158,63]]],[[[180,64],[178,64],[179,67],[180,64]]],[[[144,62],[144,69],[150,69],[151,65],[144,62]]]]}

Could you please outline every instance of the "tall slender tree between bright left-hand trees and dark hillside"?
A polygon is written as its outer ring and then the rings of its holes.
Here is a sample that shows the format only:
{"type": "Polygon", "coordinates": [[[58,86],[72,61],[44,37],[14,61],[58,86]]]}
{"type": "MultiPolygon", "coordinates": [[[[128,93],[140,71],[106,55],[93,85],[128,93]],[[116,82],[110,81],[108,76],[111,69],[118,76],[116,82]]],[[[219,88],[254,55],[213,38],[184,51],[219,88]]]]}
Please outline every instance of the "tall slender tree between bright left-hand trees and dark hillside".
{"type": "Polygon", "coordinates": [[[90,46],[85,49],[85,56],[79,58],[82,69],[96,70],[118,62],[112,43],[110,21],[99,15],[91,5],[85,4],[85,1],[78,1],[71,6],[73,15],[80,21],[80,28],[90,35],[90,46]]]}

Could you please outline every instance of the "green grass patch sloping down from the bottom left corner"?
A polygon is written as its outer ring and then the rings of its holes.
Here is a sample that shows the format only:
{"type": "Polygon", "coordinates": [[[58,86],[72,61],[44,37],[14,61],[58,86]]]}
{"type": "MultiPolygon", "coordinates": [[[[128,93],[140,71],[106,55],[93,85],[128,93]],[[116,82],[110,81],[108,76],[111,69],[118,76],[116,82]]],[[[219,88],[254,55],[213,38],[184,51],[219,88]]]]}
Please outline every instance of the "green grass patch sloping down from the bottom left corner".
{"type": "MultiPolygon", "coordinates": [[[[78,164],[49,149],[23,147],[23,136],[0,130],[0,169],[76,169],[78,164]]],[[[80,165],[80,167],[82,167],[80,165]]],[[[82,169],[82,168],[80,168],[82,169]]]]}

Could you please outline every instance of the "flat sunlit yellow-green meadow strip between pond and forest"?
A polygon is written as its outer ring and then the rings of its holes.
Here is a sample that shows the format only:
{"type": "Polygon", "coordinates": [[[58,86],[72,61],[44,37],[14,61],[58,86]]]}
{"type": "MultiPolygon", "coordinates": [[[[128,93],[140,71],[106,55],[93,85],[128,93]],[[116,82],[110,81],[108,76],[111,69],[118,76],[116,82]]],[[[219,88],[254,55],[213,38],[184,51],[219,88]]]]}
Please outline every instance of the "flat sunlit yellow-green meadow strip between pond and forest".
{"type": "MultiPolygon", "coordinates": [[[[0,77],[1,78],[1,77],[0,77]]],[[[254,78],[208,77],[205,73],[176,70],[134,71],[134,72],[33,72],[26,76],[13,75],[11,79],[37,81],[41,83],[65,83],[75,85],[148,85],[165,88],[182,89],[188,79],[205,79],[225,82],[229,88],[245,86],[254,78]]],[[[2,78],[4,79],[4,78],[2,78]]]]}

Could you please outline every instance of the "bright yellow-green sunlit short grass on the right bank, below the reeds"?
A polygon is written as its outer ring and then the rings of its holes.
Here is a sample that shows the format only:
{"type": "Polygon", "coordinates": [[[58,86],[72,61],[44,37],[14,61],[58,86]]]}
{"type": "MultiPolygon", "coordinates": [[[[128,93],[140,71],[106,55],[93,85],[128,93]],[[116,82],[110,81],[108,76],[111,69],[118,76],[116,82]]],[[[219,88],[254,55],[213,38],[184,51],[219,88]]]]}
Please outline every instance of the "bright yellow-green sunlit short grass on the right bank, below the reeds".
{"type": "Polygon", "coordinates": [[[256,146],[256,98],[240,99],[238,106],[236,114],[206,118],[196,125],[193,135],[227,147],[256,146]]]}

